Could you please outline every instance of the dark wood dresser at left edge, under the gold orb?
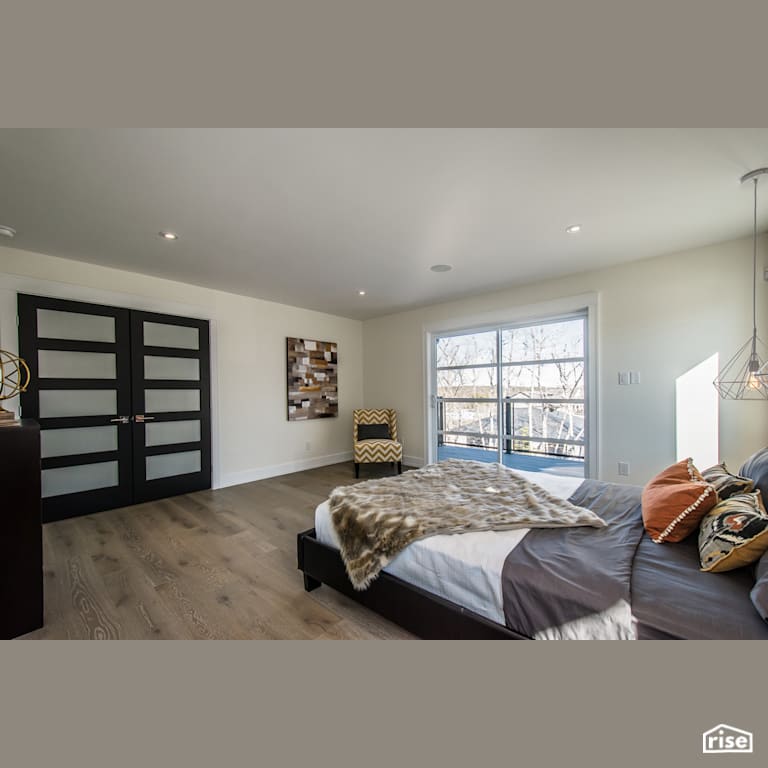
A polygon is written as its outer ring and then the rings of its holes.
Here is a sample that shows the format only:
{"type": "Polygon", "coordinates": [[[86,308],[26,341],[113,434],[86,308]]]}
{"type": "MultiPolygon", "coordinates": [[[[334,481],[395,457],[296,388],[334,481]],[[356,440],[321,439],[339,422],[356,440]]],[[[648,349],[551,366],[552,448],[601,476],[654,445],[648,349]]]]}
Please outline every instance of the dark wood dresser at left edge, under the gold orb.
{"type": "Polygon", "coordinates": [[[0,426],[0,639],[43,626],[40,427],[0,426]]]}

